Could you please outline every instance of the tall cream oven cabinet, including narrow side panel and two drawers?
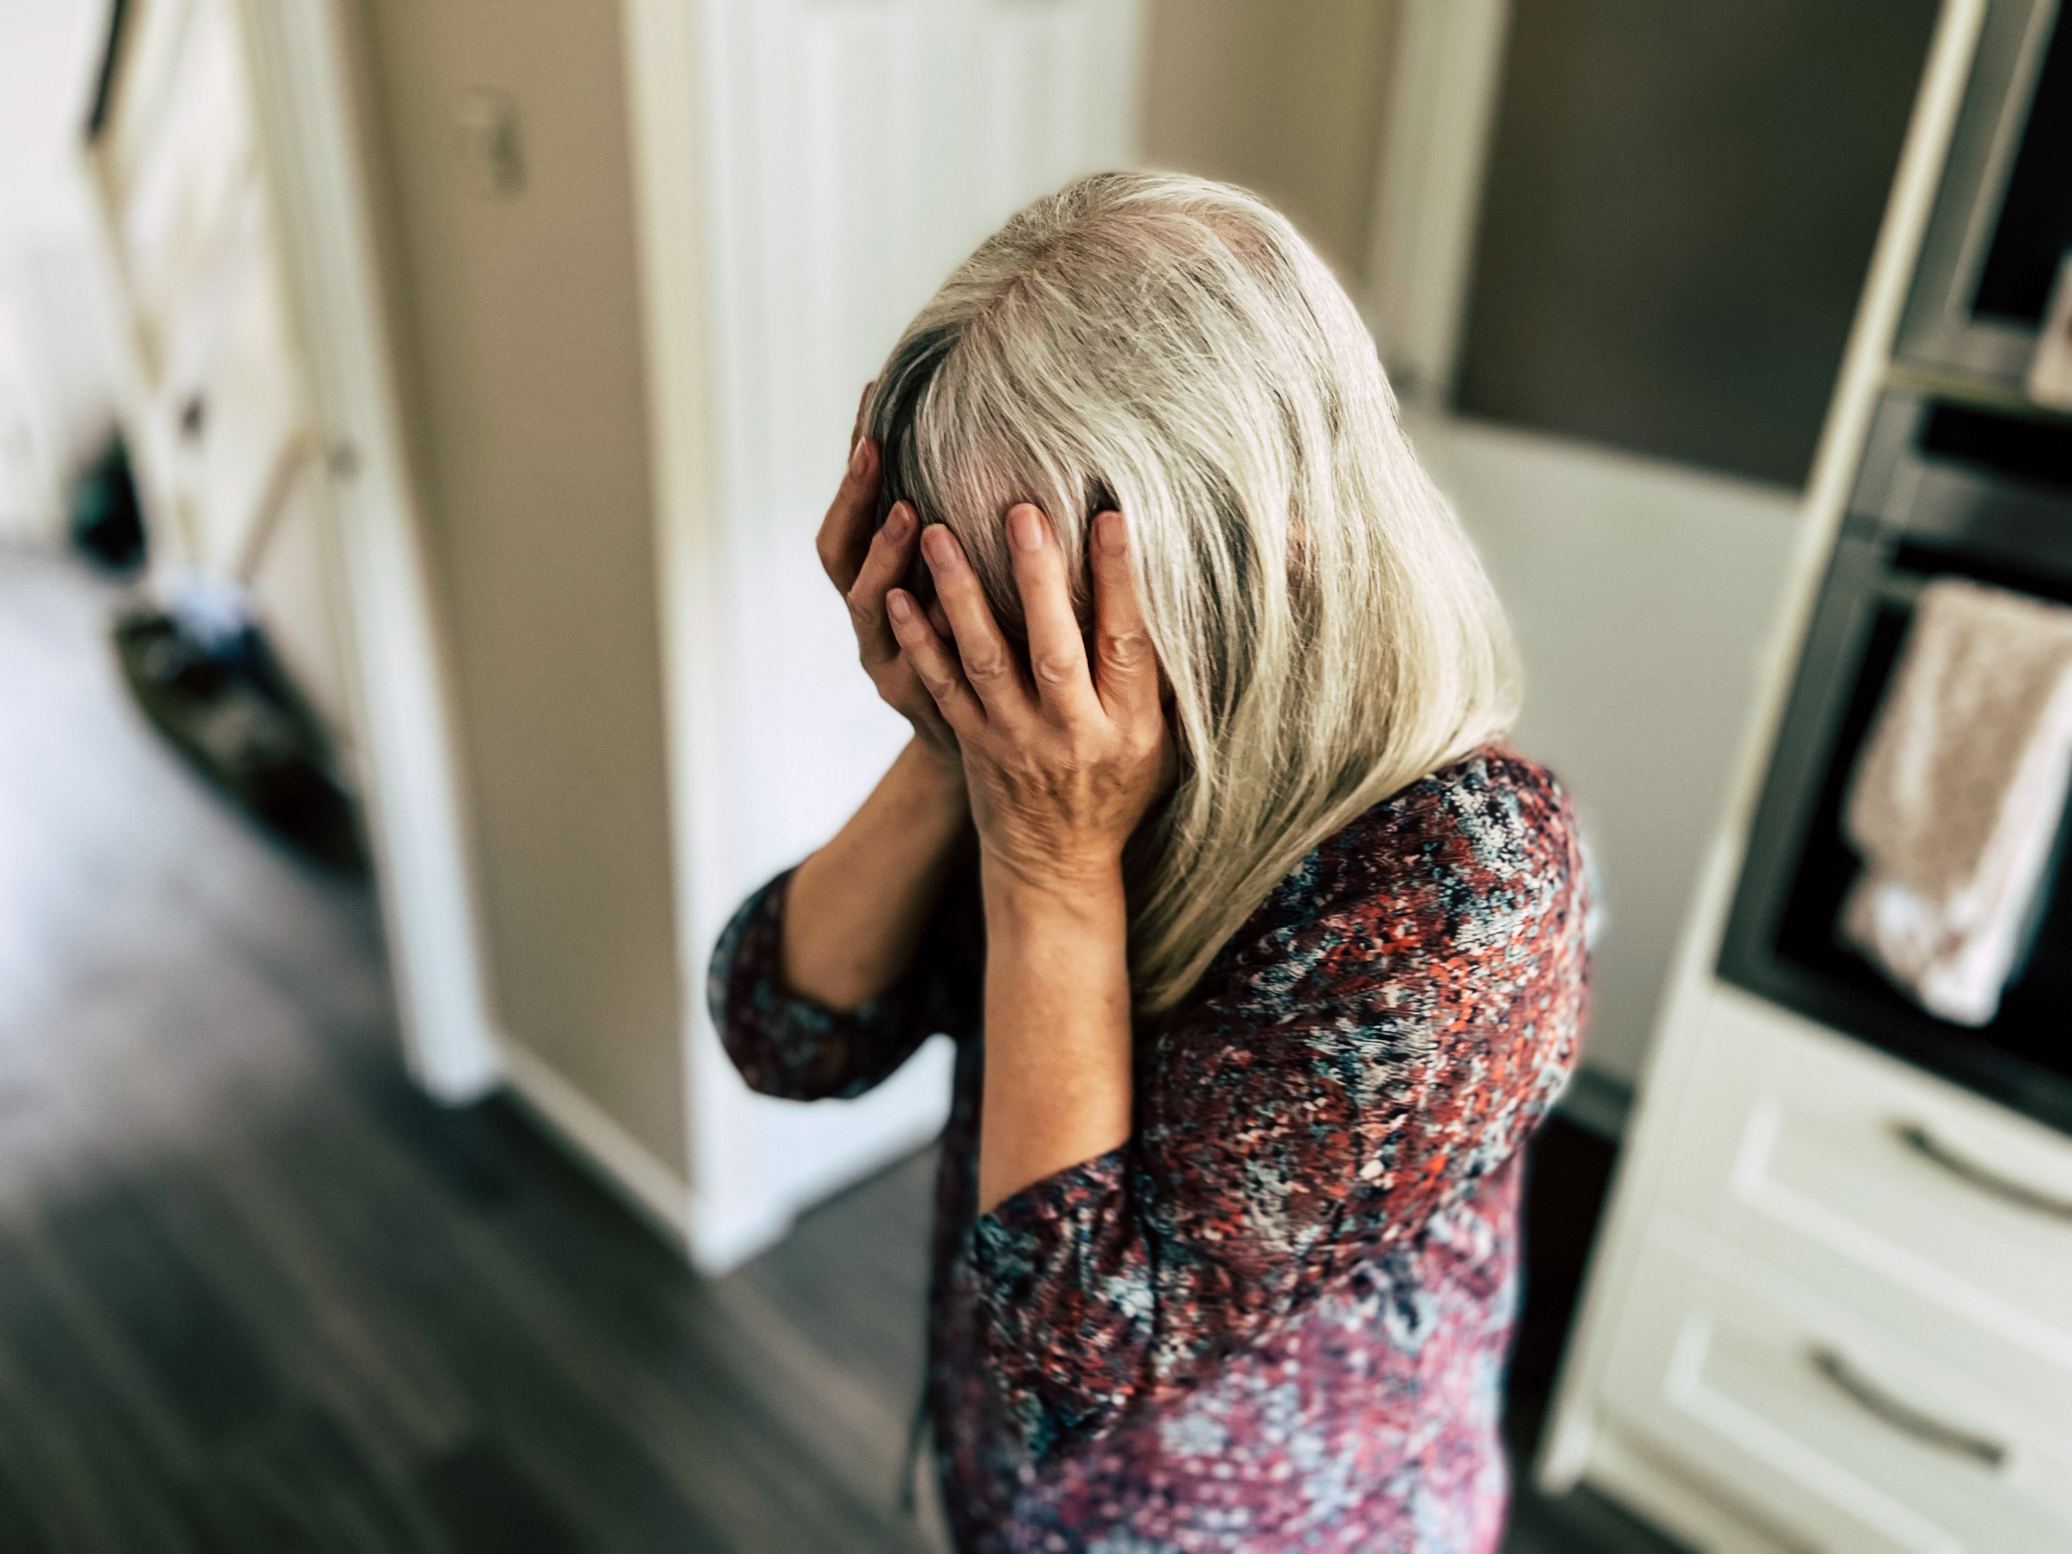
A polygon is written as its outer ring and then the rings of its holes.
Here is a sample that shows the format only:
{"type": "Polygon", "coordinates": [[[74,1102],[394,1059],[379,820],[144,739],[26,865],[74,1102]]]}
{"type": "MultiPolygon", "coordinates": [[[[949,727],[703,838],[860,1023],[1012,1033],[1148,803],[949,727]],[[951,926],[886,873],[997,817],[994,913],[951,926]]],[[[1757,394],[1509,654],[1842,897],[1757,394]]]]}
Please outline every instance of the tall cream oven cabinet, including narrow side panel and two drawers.
{"type": "Polygon", "coordinates": [[[1973,46],[2006,15],[1944,8],[1537,1465],[1703,1550],[2072,1548],[2072,1138],[1877,1051],[1904,1005],[1807,1005],[1844,1007],[1859,1040],[1718,970],[1722,945],[1782,953],[1732,897],[1747,860],[1811,854],[1761,779],[1825,779],[1790,742],[1817,702],[1786,717],[1786,696],[1875,404],[1908,381],[1892,344],[1973,46]]]}

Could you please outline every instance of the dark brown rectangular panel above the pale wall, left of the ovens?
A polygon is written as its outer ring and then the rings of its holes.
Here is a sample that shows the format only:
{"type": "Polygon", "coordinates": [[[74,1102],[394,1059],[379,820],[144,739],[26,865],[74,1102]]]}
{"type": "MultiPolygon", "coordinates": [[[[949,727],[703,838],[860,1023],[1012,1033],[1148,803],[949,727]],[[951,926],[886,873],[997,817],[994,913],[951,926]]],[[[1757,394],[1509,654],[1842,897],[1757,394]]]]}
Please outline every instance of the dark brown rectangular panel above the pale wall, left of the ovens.
{"type": "Polygon", "coordinates": [[[1513,6],[1459,408],[1803,485],[1935,12],[1513,6]]]}

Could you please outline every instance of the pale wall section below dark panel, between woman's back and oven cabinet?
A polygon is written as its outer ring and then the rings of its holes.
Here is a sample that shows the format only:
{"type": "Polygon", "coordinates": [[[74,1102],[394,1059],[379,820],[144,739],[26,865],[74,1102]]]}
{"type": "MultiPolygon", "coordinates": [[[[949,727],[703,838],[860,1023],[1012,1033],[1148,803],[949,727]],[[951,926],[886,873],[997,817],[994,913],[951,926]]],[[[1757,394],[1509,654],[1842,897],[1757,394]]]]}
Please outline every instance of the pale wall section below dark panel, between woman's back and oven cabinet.
{"type": "Polygon", "coordinates": [[[1798,493],[1459,419],[1411,421],[1510,611],[1517,744],[1575,796],[1602,922],[1585,1061],[1633,1080],[1726,798],[1798,493]]]}

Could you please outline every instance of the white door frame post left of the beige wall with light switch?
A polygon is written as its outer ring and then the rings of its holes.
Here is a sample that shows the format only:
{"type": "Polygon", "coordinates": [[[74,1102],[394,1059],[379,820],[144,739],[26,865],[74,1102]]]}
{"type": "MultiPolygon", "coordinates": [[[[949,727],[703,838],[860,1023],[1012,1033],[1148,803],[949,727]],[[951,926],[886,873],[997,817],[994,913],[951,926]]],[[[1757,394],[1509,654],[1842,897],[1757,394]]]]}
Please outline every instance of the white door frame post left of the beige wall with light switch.
{"type": "Polygon", "coordinates": [[[348,0],[236,0],[267,149],[282,282],[329,479],[361,769],[404,1059],[437,1100],[493,1090],[503,1059],[477,926],[460,740],[423,503],[410,479],[356,108],[348,0]]]}

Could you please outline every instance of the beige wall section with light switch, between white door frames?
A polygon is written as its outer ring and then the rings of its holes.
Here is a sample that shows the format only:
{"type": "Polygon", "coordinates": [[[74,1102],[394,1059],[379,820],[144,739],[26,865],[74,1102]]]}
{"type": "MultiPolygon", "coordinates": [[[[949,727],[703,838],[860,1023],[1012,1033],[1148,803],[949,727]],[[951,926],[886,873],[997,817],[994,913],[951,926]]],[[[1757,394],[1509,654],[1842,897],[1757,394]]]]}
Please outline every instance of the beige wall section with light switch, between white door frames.
{"type": "Polygon", "coordinates": [[[620,10],[363,0],[503,1032],[671,1171],[684,1057],[620,10]],[[485,193],[454,108],[518,108],[485,193]]]}

